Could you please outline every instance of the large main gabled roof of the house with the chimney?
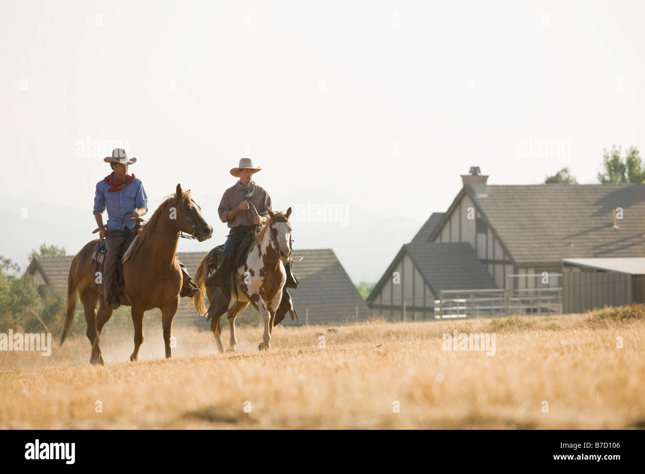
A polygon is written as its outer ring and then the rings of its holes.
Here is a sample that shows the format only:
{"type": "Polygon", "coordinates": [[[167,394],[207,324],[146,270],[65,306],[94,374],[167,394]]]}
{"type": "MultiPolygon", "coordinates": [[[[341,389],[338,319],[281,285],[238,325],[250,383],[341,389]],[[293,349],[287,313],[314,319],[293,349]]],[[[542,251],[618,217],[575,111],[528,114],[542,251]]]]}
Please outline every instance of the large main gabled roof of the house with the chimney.
{"type": "Polygon", "coordinates": [[[645,184],[490,185],[486,195],[466,185],[457,197],[464,192],[516,264],[645,256],[645,184]],[[611,213],[619,207],[623,219],[614,228],[611,213]]]}

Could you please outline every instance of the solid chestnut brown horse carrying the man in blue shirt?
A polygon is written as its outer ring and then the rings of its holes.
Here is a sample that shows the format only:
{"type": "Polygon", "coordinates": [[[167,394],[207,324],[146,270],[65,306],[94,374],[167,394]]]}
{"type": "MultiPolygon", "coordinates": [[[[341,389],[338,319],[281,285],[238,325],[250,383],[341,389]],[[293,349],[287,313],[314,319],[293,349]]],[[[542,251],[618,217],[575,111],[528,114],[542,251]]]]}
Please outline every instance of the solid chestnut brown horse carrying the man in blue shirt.
{"type": "MultiPolygon", "coordinates": [[[[210,239],[213,233],[213,228],[204,221],[200,210],[190,197],[190,190],[182,192],[181,185],[177,184],[177,192],[166,197],[150,221],[143,226],[132,255],[123,264],[125,290],[121,293],[121,304],[132,306],[134,322],[134,351],[130,360],[137,360],[139,346],[143,342],[143,313],[153,308],[161,309],[166,357],[172,357],[172,321],[179,307],[183,280],[179,262],[175,258],[179,234],[189,233],[202,242],[210,239]]],[[[90,363],[103,364],[99,334],[112,316],[112,308],[104,303],[103,284],[95,284],[95,263],[90,260],[96,242],[98,240],[88,242],[72,260],[67,279],[67,313],[61,344],[72,327],[76,300],[80,296],[87,322],[87,337],[92,343],[90,363]]]]}

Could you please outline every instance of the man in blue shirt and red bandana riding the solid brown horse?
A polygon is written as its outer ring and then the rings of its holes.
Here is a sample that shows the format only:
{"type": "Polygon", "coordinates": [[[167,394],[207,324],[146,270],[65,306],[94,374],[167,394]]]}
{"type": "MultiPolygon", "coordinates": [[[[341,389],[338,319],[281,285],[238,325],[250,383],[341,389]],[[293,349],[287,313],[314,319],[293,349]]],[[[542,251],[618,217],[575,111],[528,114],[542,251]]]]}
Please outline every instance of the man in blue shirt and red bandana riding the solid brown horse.
{"type": "MultiPolygon", "coordinates": [[[[119,298],[114,293],[113,282],[115,264],[119,258],[119,249],[126,237],[121,233],[121,224],[132,230],[139,217],[148,212],[148,197],[143,189],[143,183],[132,173],[128,174],[128,166],[137,161],[128,159],[123,148],[112,150],[112,156],[103,159],[110,163],[112,173],[103,181],[96,184],[94,197],[94,218],[99,226],[99,235],[105,239],[107,253],[103,262],[103,297],[105,303],[113,310],[119,308],[119,298]],[[108,212],[108,225],[104,228],[103,211],[108,212]],[[128,214],[127,217],[126,214],[128,214]]],[[[184,275],[181,296],[195,295],[199,288],[190,280],[184,264],[179,262],[184,275]]]]}

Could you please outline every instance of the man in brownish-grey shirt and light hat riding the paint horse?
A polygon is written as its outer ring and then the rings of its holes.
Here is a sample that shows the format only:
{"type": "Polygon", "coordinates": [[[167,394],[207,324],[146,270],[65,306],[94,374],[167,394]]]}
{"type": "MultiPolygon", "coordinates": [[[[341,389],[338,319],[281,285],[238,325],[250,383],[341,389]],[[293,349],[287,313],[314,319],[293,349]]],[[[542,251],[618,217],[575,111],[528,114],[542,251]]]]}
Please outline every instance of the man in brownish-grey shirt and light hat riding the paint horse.
{"type": "MultiPolygon", "coordinates": [[[[230,232],[224,244],[224,252],[219,257],[217,270],[206,279],[207,286],[222,286],[230,278],[233,264],[233,255],[249,233],[255,233],[259,226],[263,226],[269,219],[267,210],[271,207],[269,194],[251,180],[253,173],[261,171],[254,168],[249,158],[240,160],[237,168],[232,168],[230,173],[239,177],[235,185],[228,188],[222,196],[217,213],[222,222],[226,222],[230,232]],[[257,214],[250,210],[249,202],[253,204],[257,214]]],[[[297,288],[298,282],[291,272],[291,263],[284,264],[286,270],[286,288],[297,288]]]]}

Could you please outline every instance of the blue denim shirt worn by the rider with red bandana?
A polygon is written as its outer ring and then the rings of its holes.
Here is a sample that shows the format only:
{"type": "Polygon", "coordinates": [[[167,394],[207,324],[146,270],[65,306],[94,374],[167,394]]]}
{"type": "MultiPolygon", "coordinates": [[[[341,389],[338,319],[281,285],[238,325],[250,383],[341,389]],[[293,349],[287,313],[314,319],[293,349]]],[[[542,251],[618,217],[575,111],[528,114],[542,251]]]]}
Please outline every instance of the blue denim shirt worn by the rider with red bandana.
{"type": "MultiPolygon", "coordinates": [[[[112,173],[114,175],[114,173],[112,173]]],[[[148,210],[148,196],[143,189],[141,179],[136,178],[120,191],[109,193],[110,184],[105,181],[96,183],[96,195],[94,196],[94,212],[108,210],[108,229],[121,229],[121,219],[126,212],[132,212],[139,208],[148,210]]],[[[126,217],[125,224],[132,229],[135,220],[130,216],[126,217]]]]}

